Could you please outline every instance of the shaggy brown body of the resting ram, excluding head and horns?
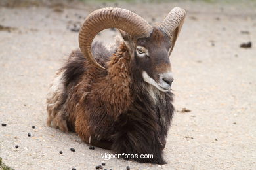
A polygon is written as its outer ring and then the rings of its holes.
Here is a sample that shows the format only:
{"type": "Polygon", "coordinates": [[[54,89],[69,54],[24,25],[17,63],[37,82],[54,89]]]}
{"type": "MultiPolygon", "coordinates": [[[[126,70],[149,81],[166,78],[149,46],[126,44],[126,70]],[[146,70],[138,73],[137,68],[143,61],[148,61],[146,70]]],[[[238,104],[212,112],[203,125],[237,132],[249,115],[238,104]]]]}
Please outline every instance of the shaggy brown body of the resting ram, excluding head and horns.
{"type": "Polygon", "coordinates": [[[137,80],[137,75],[127,70],[129,54],[123,44],[111,56],[102,44],[95,43],[93,54],[111,72],[87,62],[80,50],[72,52],[51,84],[49,126],[75,131],[87,143],[106,148],[113,143],[112,150],[120,154],[161,156],[173,114],[172,93],[137,80]]]}

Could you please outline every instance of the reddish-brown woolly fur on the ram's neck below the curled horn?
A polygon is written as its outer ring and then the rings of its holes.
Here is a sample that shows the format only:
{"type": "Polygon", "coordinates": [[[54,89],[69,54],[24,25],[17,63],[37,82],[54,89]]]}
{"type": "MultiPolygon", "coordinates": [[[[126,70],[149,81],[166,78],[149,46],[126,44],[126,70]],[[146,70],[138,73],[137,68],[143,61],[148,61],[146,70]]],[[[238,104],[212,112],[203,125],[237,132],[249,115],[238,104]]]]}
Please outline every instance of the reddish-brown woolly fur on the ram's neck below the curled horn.
{"type": "Polygon", "coordinates": [[[131,73],[129,71],[130,56],[124,43],[121,43],[116,54],[108,61],[108,75],[104,80],[104,96],[106,103],[116,114],[127,110],[132,103],[131,73]]]}

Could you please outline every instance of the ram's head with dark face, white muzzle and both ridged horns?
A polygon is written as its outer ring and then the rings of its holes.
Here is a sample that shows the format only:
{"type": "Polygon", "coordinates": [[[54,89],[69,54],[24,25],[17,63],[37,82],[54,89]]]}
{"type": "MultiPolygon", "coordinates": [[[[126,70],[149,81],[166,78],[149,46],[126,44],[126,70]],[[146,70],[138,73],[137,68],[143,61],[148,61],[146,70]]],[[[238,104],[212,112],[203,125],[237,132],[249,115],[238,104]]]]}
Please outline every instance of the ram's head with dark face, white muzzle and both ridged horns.
{"type": "Polygon", "coordinates": [[[175,7],[156,26],[151,26],[137,14],[119,8],[96,10],[85,19],[79,33],[79,46],[84,56],[97,67],[102,67],[93,58],[91,43],[97,33],[108,28],[117,28],[136,64],[137,73],[149,84],[165,92],[173,82],[169,56],[175,45],[186,12],[175,7]]]}

